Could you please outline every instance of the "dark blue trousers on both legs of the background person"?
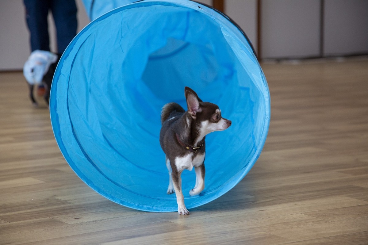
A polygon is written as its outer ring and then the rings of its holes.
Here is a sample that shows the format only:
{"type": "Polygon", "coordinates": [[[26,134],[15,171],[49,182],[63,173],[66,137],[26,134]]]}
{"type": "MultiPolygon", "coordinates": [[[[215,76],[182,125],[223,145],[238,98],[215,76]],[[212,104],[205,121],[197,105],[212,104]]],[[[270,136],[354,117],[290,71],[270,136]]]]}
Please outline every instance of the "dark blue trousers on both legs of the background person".
{"type": "Polygon", "coordinates": [[[75,0],[23,0],[26,22],[31,33],[31,49],[50,51],[47,15],[51,11],[57,39],[57,52],[62,54],[77,34],[75,0]]]}

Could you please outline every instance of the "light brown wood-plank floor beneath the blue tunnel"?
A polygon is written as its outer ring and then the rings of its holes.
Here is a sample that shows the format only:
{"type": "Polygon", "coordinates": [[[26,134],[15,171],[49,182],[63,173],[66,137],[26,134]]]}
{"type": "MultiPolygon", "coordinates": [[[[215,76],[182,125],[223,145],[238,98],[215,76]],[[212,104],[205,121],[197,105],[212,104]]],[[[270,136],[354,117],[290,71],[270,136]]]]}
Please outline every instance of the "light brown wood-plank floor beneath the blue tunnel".
{"type": "Polygon", "coordinates": [[[22,74],[0,73],[0,244],[368,244],[368,60],[262,67],[272,115],[261,157],[190,216],[92,191],[22,74]]]}

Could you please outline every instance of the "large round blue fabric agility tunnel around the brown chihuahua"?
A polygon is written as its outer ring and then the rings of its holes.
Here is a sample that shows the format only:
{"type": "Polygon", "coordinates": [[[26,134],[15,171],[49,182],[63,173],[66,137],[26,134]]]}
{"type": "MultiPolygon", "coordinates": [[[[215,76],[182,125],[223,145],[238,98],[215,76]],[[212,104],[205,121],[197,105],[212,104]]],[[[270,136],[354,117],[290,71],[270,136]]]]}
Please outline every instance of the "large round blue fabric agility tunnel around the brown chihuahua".
{"type": "Polygon", "coordinates": [[[138,1],[101,15],[70,43],[54,75],[50,113],[56,141],[75,173],[121,205],[177,211],[167,195],[160,110],[186,108],[184,87],[233,122],[206,137],[205,189],[188,209],[233,188],[258,159],[270,120],[266,79],[245,34],[228,17],[188,0],[138,1]]]}

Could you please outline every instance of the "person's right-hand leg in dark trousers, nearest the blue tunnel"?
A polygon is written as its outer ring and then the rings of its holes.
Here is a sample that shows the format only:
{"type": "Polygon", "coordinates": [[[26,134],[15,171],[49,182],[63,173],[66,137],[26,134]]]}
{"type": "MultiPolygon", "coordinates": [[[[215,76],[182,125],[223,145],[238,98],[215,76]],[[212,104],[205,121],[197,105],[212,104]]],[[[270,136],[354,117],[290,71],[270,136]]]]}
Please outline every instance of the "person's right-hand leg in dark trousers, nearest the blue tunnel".
{"type": "Polygon", "coordinates": [[[57,52],[64,53],[77,34],[77,6],[75,0],[52,0],[51,11],[57,35],[57,52]]]}

